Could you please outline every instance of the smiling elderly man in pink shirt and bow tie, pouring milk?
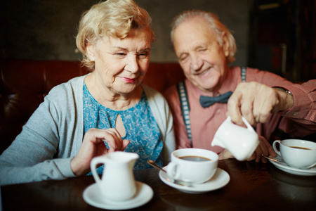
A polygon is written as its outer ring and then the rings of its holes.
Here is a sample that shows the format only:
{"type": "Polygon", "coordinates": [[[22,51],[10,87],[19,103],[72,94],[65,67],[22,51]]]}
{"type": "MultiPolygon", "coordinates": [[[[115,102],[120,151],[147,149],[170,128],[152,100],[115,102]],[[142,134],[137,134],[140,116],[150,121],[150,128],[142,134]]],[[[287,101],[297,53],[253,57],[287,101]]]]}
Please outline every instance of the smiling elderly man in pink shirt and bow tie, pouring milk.
{"type": "Polygon", "coordinates": [[[299,85],[271,72],[229,67],[235,60],[235,39],[212,13],[181,13],[173,20],[171,40],[187,78],[166,91],[178,148],[206,148],[221,159],[232,158],[227,150],[211,146],[228,115],[237,124],[244,116],[256,127],[260,144],[249,158],[256,162],[266,162],[262,154],[276,155],[267,141],[275,129],[295,136],[316,132],[316,80],[299,85]]]}

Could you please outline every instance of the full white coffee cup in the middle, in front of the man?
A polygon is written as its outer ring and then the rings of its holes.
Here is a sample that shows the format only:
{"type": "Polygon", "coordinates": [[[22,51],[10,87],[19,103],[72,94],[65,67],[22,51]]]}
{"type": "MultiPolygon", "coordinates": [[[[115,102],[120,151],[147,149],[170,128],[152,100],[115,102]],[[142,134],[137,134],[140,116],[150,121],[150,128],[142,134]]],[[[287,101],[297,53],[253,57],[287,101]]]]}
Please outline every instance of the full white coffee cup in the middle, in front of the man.
{"type": "Polygon", "coordinates": [[[173,179],[202,184],[217,170],[218,155],[199,148],[182,148],[171,153],[166,172],[173,179]]]}

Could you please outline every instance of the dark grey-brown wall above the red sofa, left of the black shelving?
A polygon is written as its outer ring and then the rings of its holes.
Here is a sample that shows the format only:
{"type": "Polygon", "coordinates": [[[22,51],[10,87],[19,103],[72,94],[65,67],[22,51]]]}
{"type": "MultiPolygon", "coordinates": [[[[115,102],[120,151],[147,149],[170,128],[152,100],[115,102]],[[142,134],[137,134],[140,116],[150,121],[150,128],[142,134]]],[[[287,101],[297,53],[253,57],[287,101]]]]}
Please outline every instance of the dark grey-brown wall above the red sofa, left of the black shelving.
{"type": "MultiPolygon", "coordinates": [[[[0,58],[79,60],[75,36],[81,13],[99,0],[11,0],[1,3],[0,58]]],[[[181,11],[216,13],[237,41],[235,65],[246,65],[251,0],[136,0],[152,17],[157,39],[151,60],[176,62],[169,38],[172,18],[181,11]]]]}

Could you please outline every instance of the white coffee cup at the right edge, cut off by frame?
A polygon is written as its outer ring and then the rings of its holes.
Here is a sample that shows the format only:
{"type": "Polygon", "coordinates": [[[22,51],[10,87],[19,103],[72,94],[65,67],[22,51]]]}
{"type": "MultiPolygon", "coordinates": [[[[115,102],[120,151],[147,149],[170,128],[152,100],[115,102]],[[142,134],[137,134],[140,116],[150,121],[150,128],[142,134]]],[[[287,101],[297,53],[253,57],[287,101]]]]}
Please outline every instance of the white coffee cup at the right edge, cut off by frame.
{"type": "Polygon", "coordinates": [[[272,144],[275,153],[292,167],[308,169],[316,165],[316,143],[301,139],[276,140],[272,144]],[[279,144],[279,149],[277,148],[279,144]]]}

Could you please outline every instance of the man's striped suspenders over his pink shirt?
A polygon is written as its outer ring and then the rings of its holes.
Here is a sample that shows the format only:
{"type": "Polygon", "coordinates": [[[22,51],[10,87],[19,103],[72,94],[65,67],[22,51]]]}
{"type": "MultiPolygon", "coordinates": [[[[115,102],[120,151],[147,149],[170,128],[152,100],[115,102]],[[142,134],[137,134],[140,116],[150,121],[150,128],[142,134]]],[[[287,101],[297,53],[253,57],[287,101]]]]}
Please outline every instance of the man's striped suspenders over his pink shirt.
{"type": "MultiPolygon", "coordinates": [[[[242,82],[246,82],[246,67],[241,67],[242,72],[242,82]]],[[[192,135],[191,135],[191,124],[190,124],[190,105],[187,98],[187,89],[185,88],[185,82],[178,82],[177,84],[180,107],[182,112],[183,121],[185,122],[185,127],[187,128],[187,137],[191,141],[192,146],[192,135]]]]}

